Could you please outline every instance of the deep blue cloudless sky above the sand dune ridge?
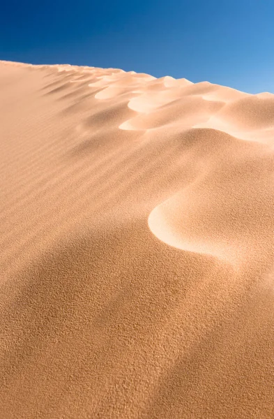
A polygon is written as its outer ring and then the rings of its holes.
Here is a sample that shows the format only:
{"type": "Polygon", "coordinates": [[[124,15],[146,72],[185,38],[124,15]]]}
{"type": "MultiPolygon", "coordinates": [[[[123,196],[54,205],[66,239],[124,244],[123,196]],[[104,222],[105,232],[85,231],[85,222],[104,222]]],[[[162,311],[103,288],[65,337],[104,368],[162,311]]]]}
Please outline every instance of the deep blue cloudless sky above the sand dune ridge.
{"type": "Polygon", "coordinates": [[[274,93],[274,0],[5,1],[0,59],[274,93]]]}

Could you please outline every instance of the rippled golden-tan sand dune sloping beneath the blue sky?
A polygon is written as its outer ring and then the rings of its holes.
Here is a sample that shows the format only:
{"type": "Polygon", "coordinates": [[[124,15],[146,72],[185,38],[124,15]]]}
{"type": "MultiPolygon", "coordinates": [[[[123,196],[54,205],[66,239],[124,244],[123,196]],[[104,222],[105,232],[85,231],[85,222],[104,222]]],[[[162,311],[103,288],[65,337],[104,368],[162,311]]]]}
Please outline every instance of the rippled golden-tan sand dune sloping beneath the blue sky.
{"type": "Polygon", "coordinates": [[[0,62],[0,417],[274,418],[274,95],[0,62]]]}

